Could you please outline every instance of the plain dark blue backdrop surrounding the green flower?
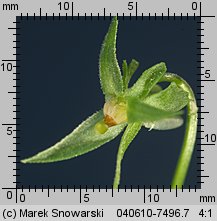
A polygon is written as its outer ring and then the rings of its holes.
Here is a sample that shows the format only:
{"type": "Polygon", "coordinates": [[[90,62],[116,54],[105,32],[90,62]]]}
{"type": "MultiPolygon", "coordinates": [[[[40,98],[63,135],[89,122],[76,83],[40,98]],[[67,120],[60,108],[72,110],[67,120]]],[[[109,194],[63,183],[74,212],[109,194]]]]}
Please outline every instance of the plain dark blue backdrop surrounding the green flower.
{"type": "MultiPolygon", "coordinates": [[[[98,77],[100,47],[109,18],[59,21],[55,17],[20,20],[19,135],[20,159],[55,144],[104,104],[98,77]]],[[[117,57],[121,65],[135,58],[140,67],[135,81],[148,67],[166,62],[169,72],[186,79],[196,92],[199,25],[193,18],[163,21],[120,19],[117,57]]],[[[184,135],[184,126],[170,131],[143,128],[125,154],[121,187],[171,183],[184,135]]],[[[121,136],[75,159],[49,164],[19,164],[17,181],[28,185],[111,186],[121,136]]],[[[196,152],[186,180],[195,185],[196,152]]]]}

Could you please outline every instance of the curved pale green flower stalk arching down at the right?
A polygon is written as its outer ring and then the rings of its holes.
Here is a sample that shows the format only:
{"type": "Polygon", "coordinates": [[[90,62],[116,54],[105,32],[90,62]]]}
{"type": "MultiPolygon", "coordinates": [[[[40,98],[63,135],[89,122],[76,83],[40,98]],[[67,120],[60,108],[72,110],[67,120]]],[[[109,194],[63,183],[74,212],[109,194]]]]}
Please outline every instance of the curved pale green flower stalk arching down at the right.
{"type": "Polygon", "coordinates": [[[194,150],[197,133],[198,108],[194,93],[189,84],[184,79],[176,74],[166,73],[160,81],[175,82],[179,87],[181,87],[188,93],[189,97],[189,103],[187,105],[188,113],[184,141],[171,184],[171,188],[175,189],[177,187],[178,189],[180,189],[185,182],[192,153],[194,150]]]}

